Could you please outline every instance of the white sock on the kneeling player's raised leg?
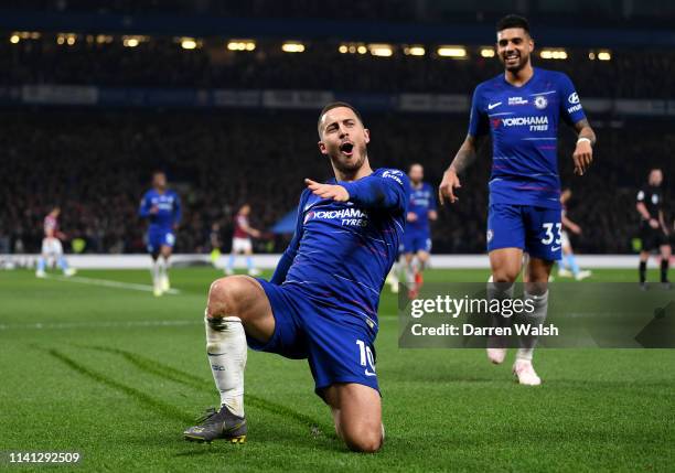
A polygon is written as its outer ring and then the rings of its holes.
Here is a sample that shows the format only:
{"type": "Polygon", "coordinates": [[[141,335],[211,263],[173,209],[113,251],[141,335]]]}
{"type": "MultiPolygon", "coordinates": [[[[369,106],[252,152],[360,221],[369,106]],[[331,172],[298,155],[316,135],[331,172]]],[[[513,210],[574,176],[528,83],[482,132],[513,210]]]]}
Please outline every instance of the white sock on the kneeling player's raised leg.
{"type": "Polygon", "coordinates": [[[213,379],[221,393],[221,405],[235,416],[244,417],[244,368],[246,334],[237,316],[204,318],[206,354],[213,379]]]}

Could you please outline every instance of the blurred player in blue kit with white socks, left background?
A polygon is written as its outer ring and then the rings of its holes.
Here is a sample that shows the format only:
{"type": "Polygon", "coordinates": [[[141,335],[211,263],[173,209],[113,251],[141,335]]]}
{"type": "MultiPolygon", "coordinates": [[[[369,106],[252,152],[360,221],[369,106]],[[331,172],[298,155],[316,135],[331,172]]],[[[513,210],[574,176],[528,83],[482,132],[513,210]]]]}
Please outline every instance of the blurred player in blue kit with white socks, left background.
{"type": "Polygon", "coordinates": [[[171,288],[169,281],[169,258],[175,245],[175,234],[181,222],[181,200],[167,189],[167,174],[152,174],[152,189],[143,195],[138,214],[148,218],[146,243],[152,256],[152,289],[154,295],[162,295],[171,288]]]}

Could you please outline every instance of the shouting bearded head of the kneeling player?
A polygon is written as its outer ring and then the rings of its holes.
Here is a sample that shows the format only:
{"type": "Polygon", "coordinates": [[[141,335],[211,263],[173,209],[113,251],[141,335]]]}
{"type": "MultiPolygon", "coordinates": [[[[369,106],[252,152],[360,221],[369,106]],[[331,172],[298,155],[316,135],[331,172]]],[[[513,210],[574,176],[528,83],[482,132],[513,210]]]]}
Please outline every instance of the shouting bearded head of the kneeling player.
{"type": "Polygon", "coordinates": [[[331,159],[335,169],[345,173],[361,169],[369,141],[367,128],[351,108],[336,107],[321,117],[319,150],[331,159]]]}

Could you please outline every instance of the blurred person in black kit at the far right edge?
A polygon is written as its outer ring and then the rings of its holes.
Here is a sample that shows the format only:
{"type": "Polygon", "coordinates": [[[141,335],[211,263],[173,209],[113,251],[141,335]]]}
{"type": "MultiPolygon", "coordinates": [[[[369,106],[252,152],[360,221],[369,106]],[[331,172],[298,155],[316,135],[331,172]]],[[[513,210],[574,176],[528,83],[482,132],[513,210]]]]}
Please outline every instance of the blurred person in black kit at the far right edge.
{"type": "Polygon", "coordinates": [[[640,213],[640,286],[646,289],[646,264],[650,254],[654,250],[661,252],[661,282],[671,288],[668,281],[668,265],[671,262],[669,229],[665,224],[663,214],[663,195],[661,184],[663,172],[660,169],[650,171],[647,185],[638,192],[635,208],[640,213]]]}

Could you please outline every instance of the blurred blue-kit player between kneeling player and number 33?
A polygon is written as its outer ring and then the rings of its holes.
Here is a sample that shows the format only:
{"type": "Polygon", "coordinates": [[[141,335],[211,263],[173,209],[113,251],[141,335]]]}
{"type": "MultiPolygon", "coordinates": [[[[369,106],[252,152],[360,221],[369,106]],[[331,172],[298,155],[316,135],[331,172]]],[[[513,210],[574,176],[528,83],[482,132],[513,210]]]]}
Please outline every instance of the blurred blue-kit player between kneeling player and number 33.
{"type": "Polygon", "coordinates": [[[410,201],[406,218],[405,256],[408,297],[415,299],[422,284],[422,271],[431,251],[429,221],[436,221],[436,193],[428,182],[424,182],[425,170],[415,163],[408,170],[410,178],[410,201]]]}

